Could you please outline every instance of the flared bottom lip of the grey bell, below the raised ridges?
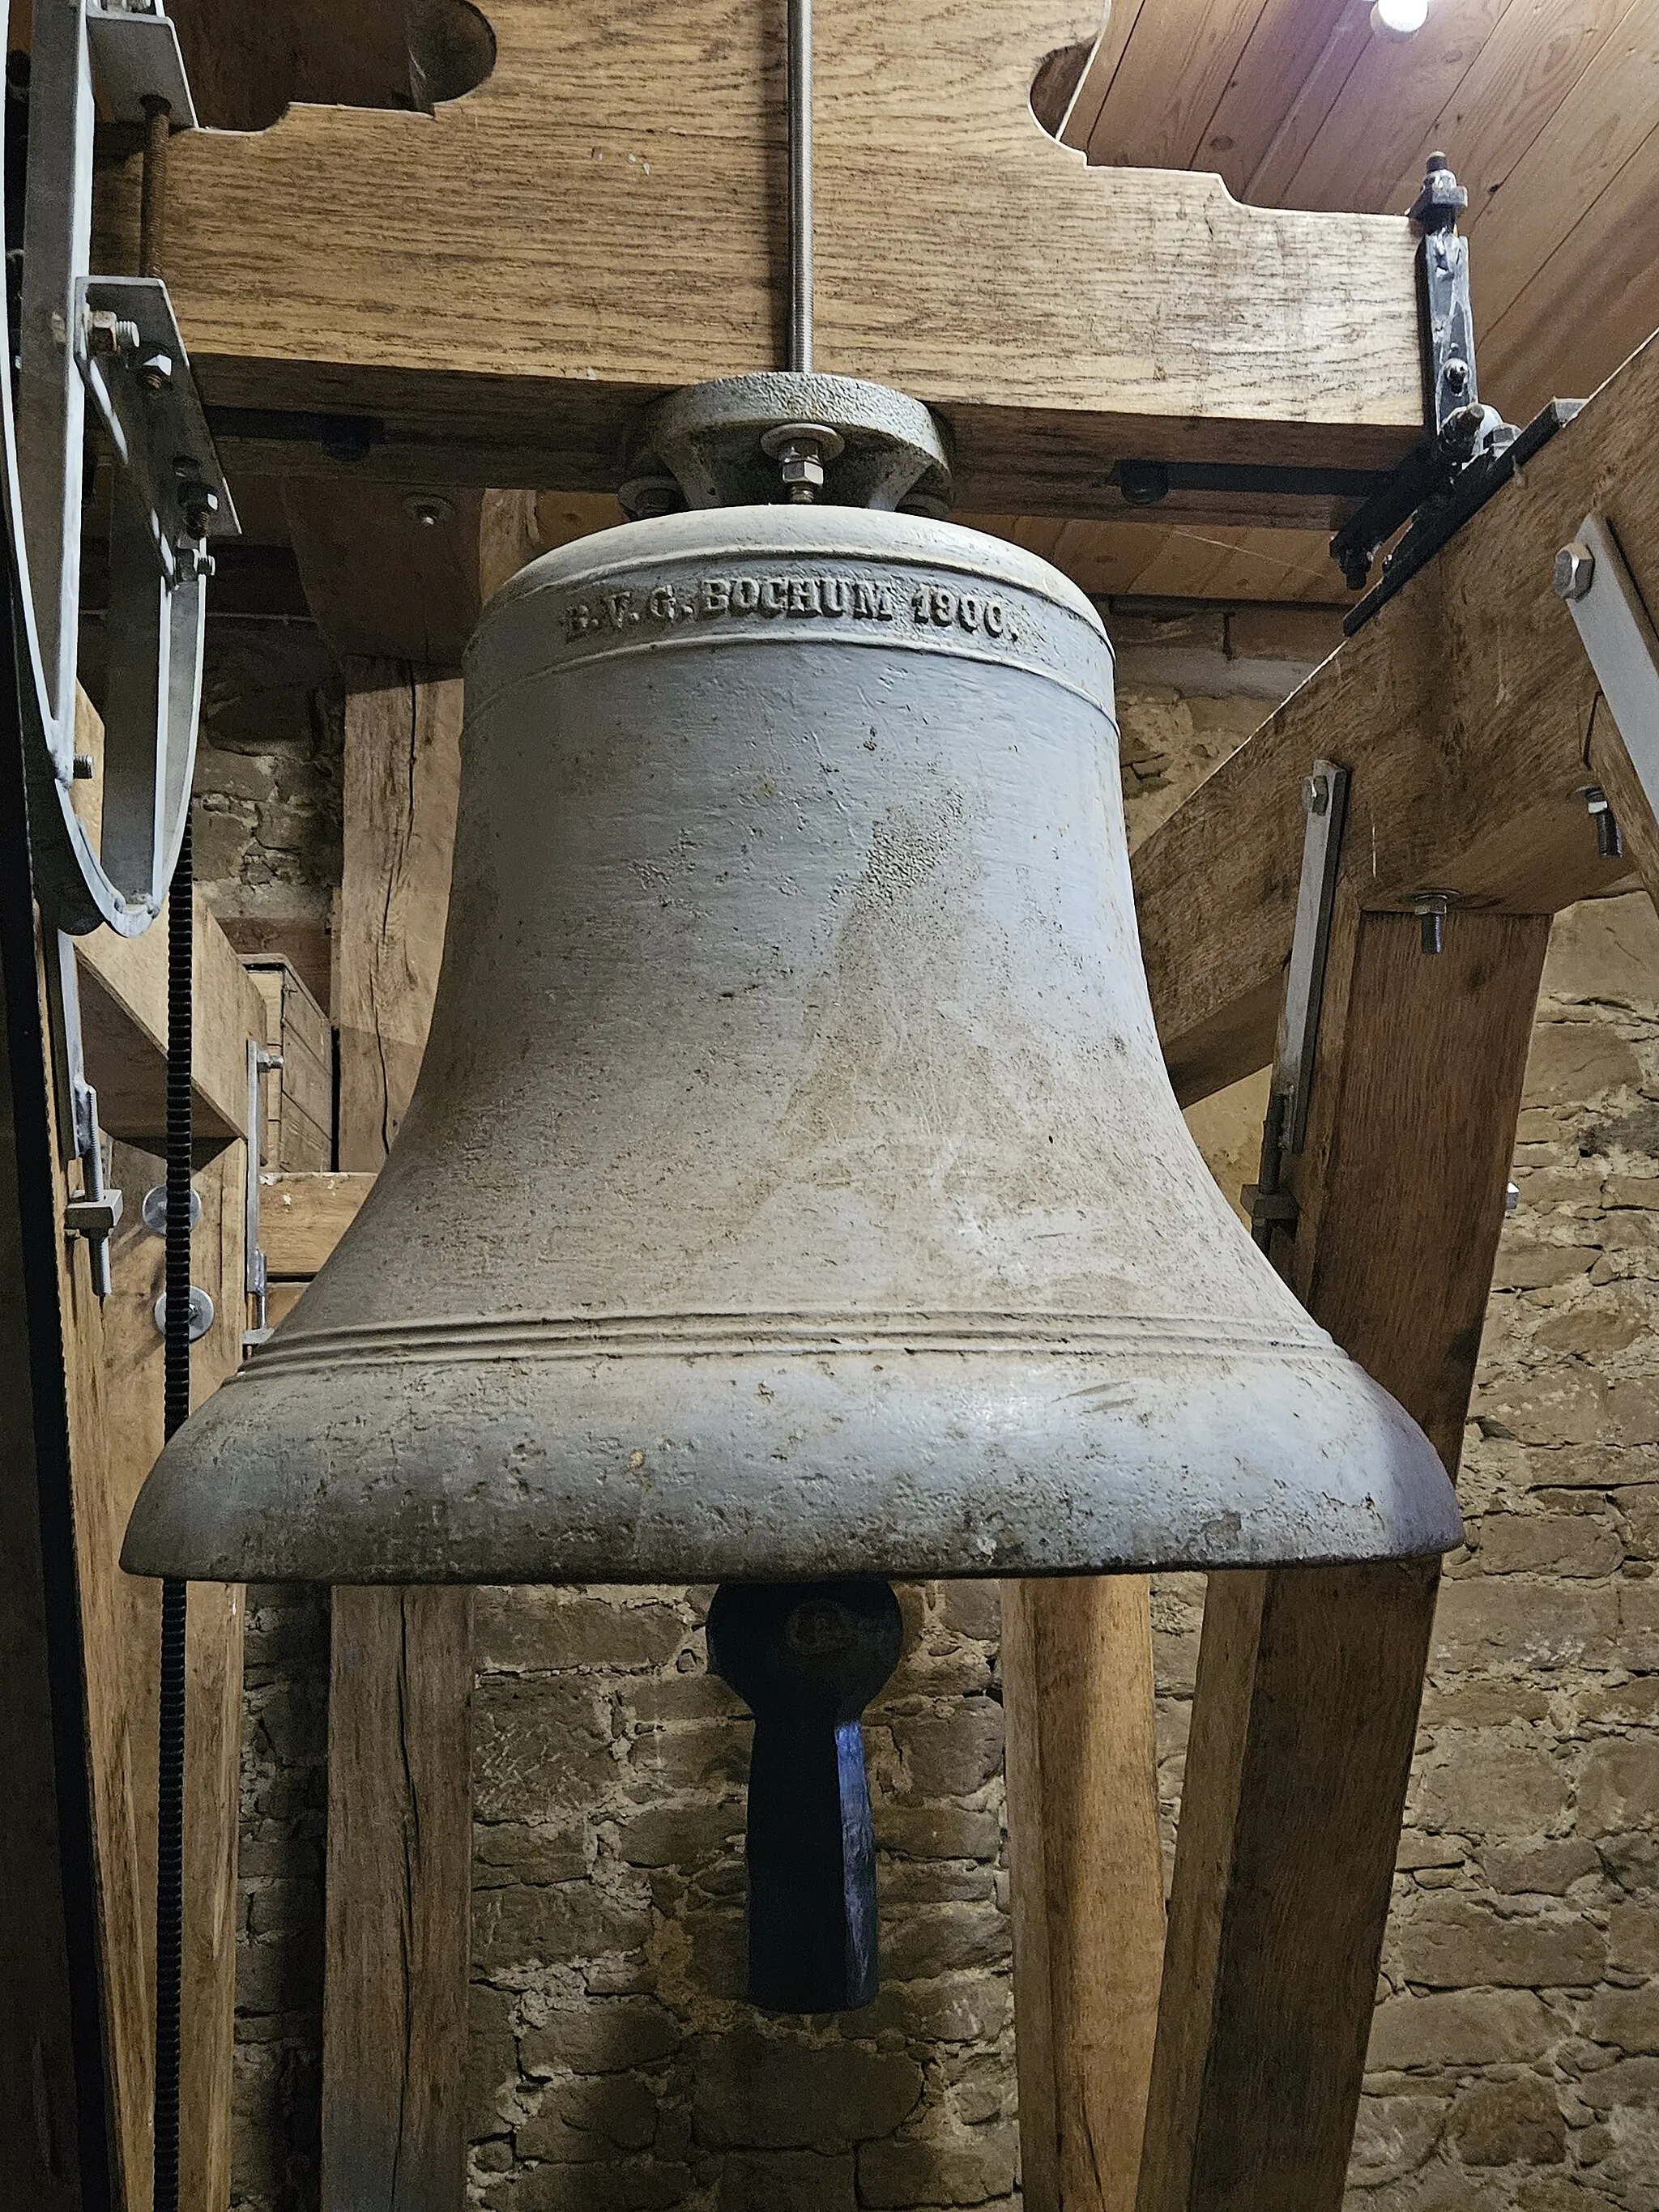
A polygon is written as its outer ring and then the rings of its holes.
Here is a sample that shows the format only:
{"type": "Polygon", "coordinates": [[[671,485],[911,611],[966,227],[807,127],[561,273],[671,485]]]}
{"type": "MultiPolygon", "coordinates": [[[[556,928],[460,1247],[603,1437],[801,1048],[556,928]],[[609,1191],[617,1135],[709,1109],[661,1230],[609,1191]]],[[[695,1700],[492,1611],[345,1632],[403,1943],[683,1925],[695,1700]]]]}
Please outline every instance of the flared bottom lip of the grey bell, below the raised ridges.
{"type": "Polygon", "coordinates": [[[305,1391],[254,1363],[166,1447],[122,1566],[192,1582],[929,1582],[1343,1566],[1462,1542],[1438,1453],[1336,1347],[1155,1374],[920,1352],[902,1385],[867,1356],[626,1365],[347,1369],[305,1391]],[[810,1442],[787,1458],[785,1436],[810,1442]]]}

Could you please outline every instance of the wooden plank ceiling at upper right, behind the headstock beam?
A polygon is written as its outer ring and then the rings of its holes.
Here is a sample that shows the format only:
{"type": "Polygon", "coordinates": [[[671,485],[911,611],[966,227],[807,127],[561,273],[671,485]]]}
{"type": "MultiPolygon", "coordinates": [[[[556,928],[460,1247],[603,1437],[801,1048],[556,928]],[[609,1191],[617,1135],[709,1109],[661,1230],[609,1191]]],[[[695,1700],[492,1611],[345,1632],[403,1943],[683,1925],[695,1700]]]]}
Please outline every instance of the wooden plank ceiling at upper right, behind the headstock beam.
{"type": "MultiPolygon", "coordinates": [[[[1429,0],[1405,40],[1369,0],[1110,0],[1042,119],[1091,164],[1208,168],[1281,208],[1405,212],[1444,150],[1469,188],[1480,392],[1515,422],[1659,327],[1659,0],[1429,0]]],[[[1343,597],[1303,531],[995,526],[1088,591],[1343,597]]]]}

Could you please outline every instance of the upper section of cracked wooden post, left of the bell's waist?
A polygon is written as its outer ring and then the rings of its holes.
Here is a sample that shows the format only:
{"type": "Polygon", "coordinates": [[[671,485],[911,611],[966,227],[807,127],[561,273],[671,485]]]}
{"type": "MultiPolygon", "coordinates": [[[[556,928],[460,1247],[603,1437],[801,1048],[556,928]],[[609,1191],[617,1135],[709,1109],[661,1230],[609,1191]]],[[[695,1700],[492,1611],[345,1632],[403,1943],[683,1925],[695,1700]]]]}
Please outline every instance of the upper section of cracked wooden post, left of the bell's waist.
{"type": "Polygon", "coordinates": [[[378,1168],[427,1048],[460,785],[460,681],[354,661],[341,878],[343,1168],[378,1168]]]}

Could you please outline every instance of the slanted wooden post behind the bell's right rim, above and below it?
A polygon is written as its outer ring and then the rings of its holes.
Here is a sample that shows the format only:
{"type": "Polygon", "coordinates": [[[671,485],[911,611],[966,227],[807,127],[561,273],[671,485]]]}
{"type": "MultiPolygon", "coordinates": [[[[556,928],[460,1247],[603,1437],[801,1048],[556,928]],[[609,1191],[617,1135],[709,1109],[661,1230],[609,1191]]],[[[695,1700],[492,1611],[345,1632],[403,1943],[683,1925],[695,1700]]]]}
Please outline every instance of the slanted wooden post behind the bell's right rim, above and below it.
{"type": "MultiPolygon", "coordinates": [[[[1276,1239],[1453,1473],[1546,945],[1546,916],[1458,914],[1431,958],[1411,916],[1345,900],[1276,1239]]],[[[1210,1577],[1139,2212],[1343,2203],[1436,1582],[1210,1577]]]]}

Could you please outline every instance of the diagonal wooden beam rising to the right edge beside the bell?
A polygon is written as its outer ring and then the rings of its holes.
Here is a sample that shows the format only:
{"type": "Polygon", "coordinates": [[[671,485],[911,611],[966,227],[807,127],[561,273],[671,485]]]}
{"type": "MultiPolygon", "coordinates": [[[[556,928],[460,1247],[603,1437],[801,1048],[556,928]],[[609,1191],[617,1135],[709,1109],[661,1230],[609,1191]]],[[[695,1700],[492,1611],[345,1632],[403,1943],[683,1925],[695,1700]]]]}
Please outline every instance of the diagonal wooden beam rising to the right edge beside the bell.
{"type": "Polygon", "coordinates": [[[1655,405],[1659,345],[1646,345],[1139,847],[1141,949],[1183,1102],[1272,1057],[1301,779],[1321,754],[1356,772],[1367,909],[1433,885],[1469,907],[1555,914],[1619,880],[1575,796],[1595,677],[1551,562],[1597,509],[1659,606],[1655,405]]]}

